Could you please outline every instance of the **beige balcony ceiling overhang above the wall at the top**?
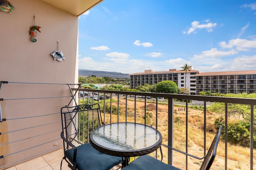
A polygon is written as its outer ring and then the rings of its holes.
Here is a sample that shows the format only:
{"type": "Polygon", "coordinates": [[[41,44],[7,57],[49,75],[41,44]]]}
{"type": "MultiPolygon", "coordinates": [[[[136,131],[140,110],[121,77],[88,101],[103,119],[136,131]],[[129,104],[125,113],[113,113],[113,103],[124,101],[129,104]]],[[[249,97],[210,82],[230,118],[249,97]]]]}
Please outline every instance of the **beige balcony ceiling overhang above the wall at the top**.
{"type": "Polygon", "coordinates": [[[98,5],[103,0],[42,0],[60,8],[75,16],[80,16],[84,12],[90,10],[94,6],[98,5]]]}

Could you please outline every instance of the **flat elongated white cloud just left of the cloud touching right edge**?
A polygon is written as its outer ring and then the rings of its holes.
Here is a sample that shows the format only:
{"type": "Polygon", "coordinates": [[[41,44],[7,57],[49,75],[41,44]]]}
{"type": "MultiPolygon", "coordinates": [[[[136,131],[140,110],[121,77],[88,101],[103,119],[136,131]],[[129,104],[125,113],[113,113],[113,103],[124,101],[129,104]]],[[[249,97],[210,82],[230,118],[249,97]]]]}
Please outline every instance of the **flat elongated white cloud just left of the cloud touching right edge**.
{"type": "Polygon", "coordinates": [[[205,58],[205,57],[223,57],[228,55],[237,54],[238,51],[231,49],[230,51],[219,51],[217,48],[212,48],[208,51],[203,51],[201,55],[194,55],[195,58],[205,58]]]}

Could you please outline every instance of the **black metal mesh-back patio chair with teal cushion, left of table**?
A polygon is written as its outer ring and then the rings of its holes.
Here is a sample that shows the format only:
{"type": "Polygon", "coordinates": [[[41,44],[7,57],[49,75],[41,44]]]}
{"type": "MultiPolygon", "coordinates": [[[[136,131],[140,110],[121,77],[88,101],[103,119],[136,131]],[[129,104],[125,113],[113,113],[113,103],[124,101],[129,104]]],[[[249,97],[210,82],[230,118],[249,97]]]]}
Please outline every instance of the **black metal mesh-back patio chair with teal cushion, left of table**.
{"type": "Polygon", "coordinates": [[[104,125],[99,104],[62,107],[61,119],[62,161],[66,160],[72,170],[114,170],[122,167],[121,157],[99,152],[90,144],[90,133],[104,125]]]}

